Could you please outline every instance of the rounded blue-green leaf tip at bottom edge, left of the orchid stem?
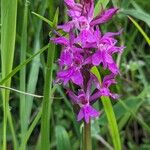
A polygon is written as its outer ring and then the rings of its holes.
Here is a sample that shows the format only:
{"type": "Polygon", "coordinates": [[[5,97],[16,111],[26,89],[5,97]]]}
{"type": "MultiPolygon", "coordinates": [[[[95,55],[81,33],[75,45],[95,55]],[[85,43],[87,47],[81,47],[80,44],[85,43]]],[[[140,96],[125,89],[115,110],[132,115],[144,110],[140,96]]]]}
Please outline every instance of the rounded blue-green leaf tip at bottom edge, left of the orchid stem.
{"type": "Polygon", "coordinates": [[[69,150],[71,149],[68,133],[65,128],[58,125],[55,128],[56,133],[56,146],[57,150],[69,150]]]}

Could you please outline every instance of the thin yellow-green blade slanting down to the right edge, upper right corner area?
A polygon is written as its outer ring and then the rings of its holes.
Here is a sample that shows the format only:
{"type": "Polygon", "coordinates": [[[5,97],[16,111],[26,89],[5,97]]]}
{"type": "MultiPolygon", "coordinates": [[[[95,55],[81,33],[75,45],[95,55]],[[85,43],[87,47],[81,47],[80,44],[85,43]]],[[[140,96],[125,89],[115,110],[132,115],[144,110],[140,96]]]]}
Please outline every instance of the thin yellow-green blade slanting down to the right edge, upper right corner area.
{"type": "Polygon", "coordinates": [[[144,32],[144,30],[140,27],[140,25],[132,17],[128,16],[128,18],[132,21],[132,23],[136,26],[136,28],[141,32],[141,34],[144,36],[147,43],[150,45],[150,38],[144,32]]]}

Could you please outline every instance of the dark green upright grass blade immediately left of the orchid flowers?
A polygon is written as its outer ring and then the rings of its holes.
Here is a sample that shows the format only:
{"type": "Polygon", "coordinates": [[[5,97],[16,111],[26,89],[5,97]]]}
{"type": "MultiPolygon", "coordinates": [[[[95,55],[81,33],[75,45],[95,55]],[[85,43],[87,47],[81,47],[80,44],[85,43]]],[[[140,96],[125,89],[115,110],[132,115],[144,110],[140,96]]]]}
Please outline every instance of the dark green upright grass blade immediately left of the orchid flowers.
{"type": "Polygon", "coordinates": [[[50,149],[50,112],[52,99],[50,93],[52,89],[52,73],[54,61],[55,45],[49,44],[46,74],[44,82],[44,98],[41,117],[41,150],[50,149]]]}

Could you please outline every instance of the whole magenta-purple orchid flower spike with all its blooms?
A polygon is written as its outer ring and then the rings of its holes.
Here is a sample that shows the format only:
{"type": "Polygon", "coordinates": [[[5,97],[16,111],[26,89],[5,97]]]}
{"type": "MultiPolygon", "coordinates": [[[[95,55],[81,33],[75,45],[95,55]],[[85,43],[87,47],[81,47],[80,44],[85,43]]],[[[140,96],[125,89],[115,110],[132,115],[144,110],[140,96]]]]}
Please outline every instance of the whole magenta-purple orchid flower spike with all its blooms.
{"type": "Polygon", "coordinates": [[[77,120],[85,120],[89,123],[91,118],[98,117],[100,112],[92,104],[101,96],[118,98],[118,94],[110,91],[110,86],[115,84],[115,76],[119,74],[112,55],[121,53],[123,46],[117,46],[114,38],[121,31],[102,34],[99,26],[112,19],[118,9],[103,10],[94,17],[94,0],[64,0],[70,21],[59,25],[58,29],[67,33],[67,36],[59,35],[51,40],[63,46],[58,59],[59,71],[57,82],[67,88],[67,93],[74,105],[79,106],[77,120]],[[110,71],[103,78],[102,83],[91,73],[93,66],[101,65],[103,69],[110,71]],[[68,89],[72,83],[78,89],[76,92],[68,89]]]}

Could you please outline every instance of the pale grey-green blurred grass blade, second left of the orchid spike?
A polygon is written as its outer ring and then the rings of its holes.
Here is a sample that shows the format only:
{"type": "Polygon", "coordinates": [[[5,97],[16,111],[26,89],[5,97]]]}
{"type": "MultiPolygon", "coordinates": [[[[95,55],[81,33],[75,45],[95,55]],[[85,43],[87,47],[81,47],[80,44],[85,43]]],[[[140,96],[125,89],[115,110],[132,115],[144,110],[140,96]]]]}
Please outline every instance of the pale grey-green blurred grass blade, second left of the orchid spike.
{"type": "MultiPolygon", "coordinates": [[[[44,15],[45,10],[47,7],[47,0],[42,0],[39,8],[39,14],[44,15]]],[[[37,19],[37,18],[36,18],[37,19]]],[[[35,22],[35,40],[34,40],[34,52],[37,53],[38,49],[40,49],[41,46],[41,28],[42,28],[42,21],[37,20],[35,22]]],[[[35,93],[36,90],[36,85],[37,85],[37,80],[38,80],[38,74],[39,74],[39,68],[40,68],[40,56],[35,57],[32,60],[31,64],[31,69],[29,73],[29,78],[28,78],[28,83],[27,83],[27,92],[28,93],[35,93]]],[[[29,120],[30,120],[30,114],[32,110],[32,104],[33,104],[33,97],[31,96],[26,96],[26,122],[28,122],[29,125],[29,120]]]]}

